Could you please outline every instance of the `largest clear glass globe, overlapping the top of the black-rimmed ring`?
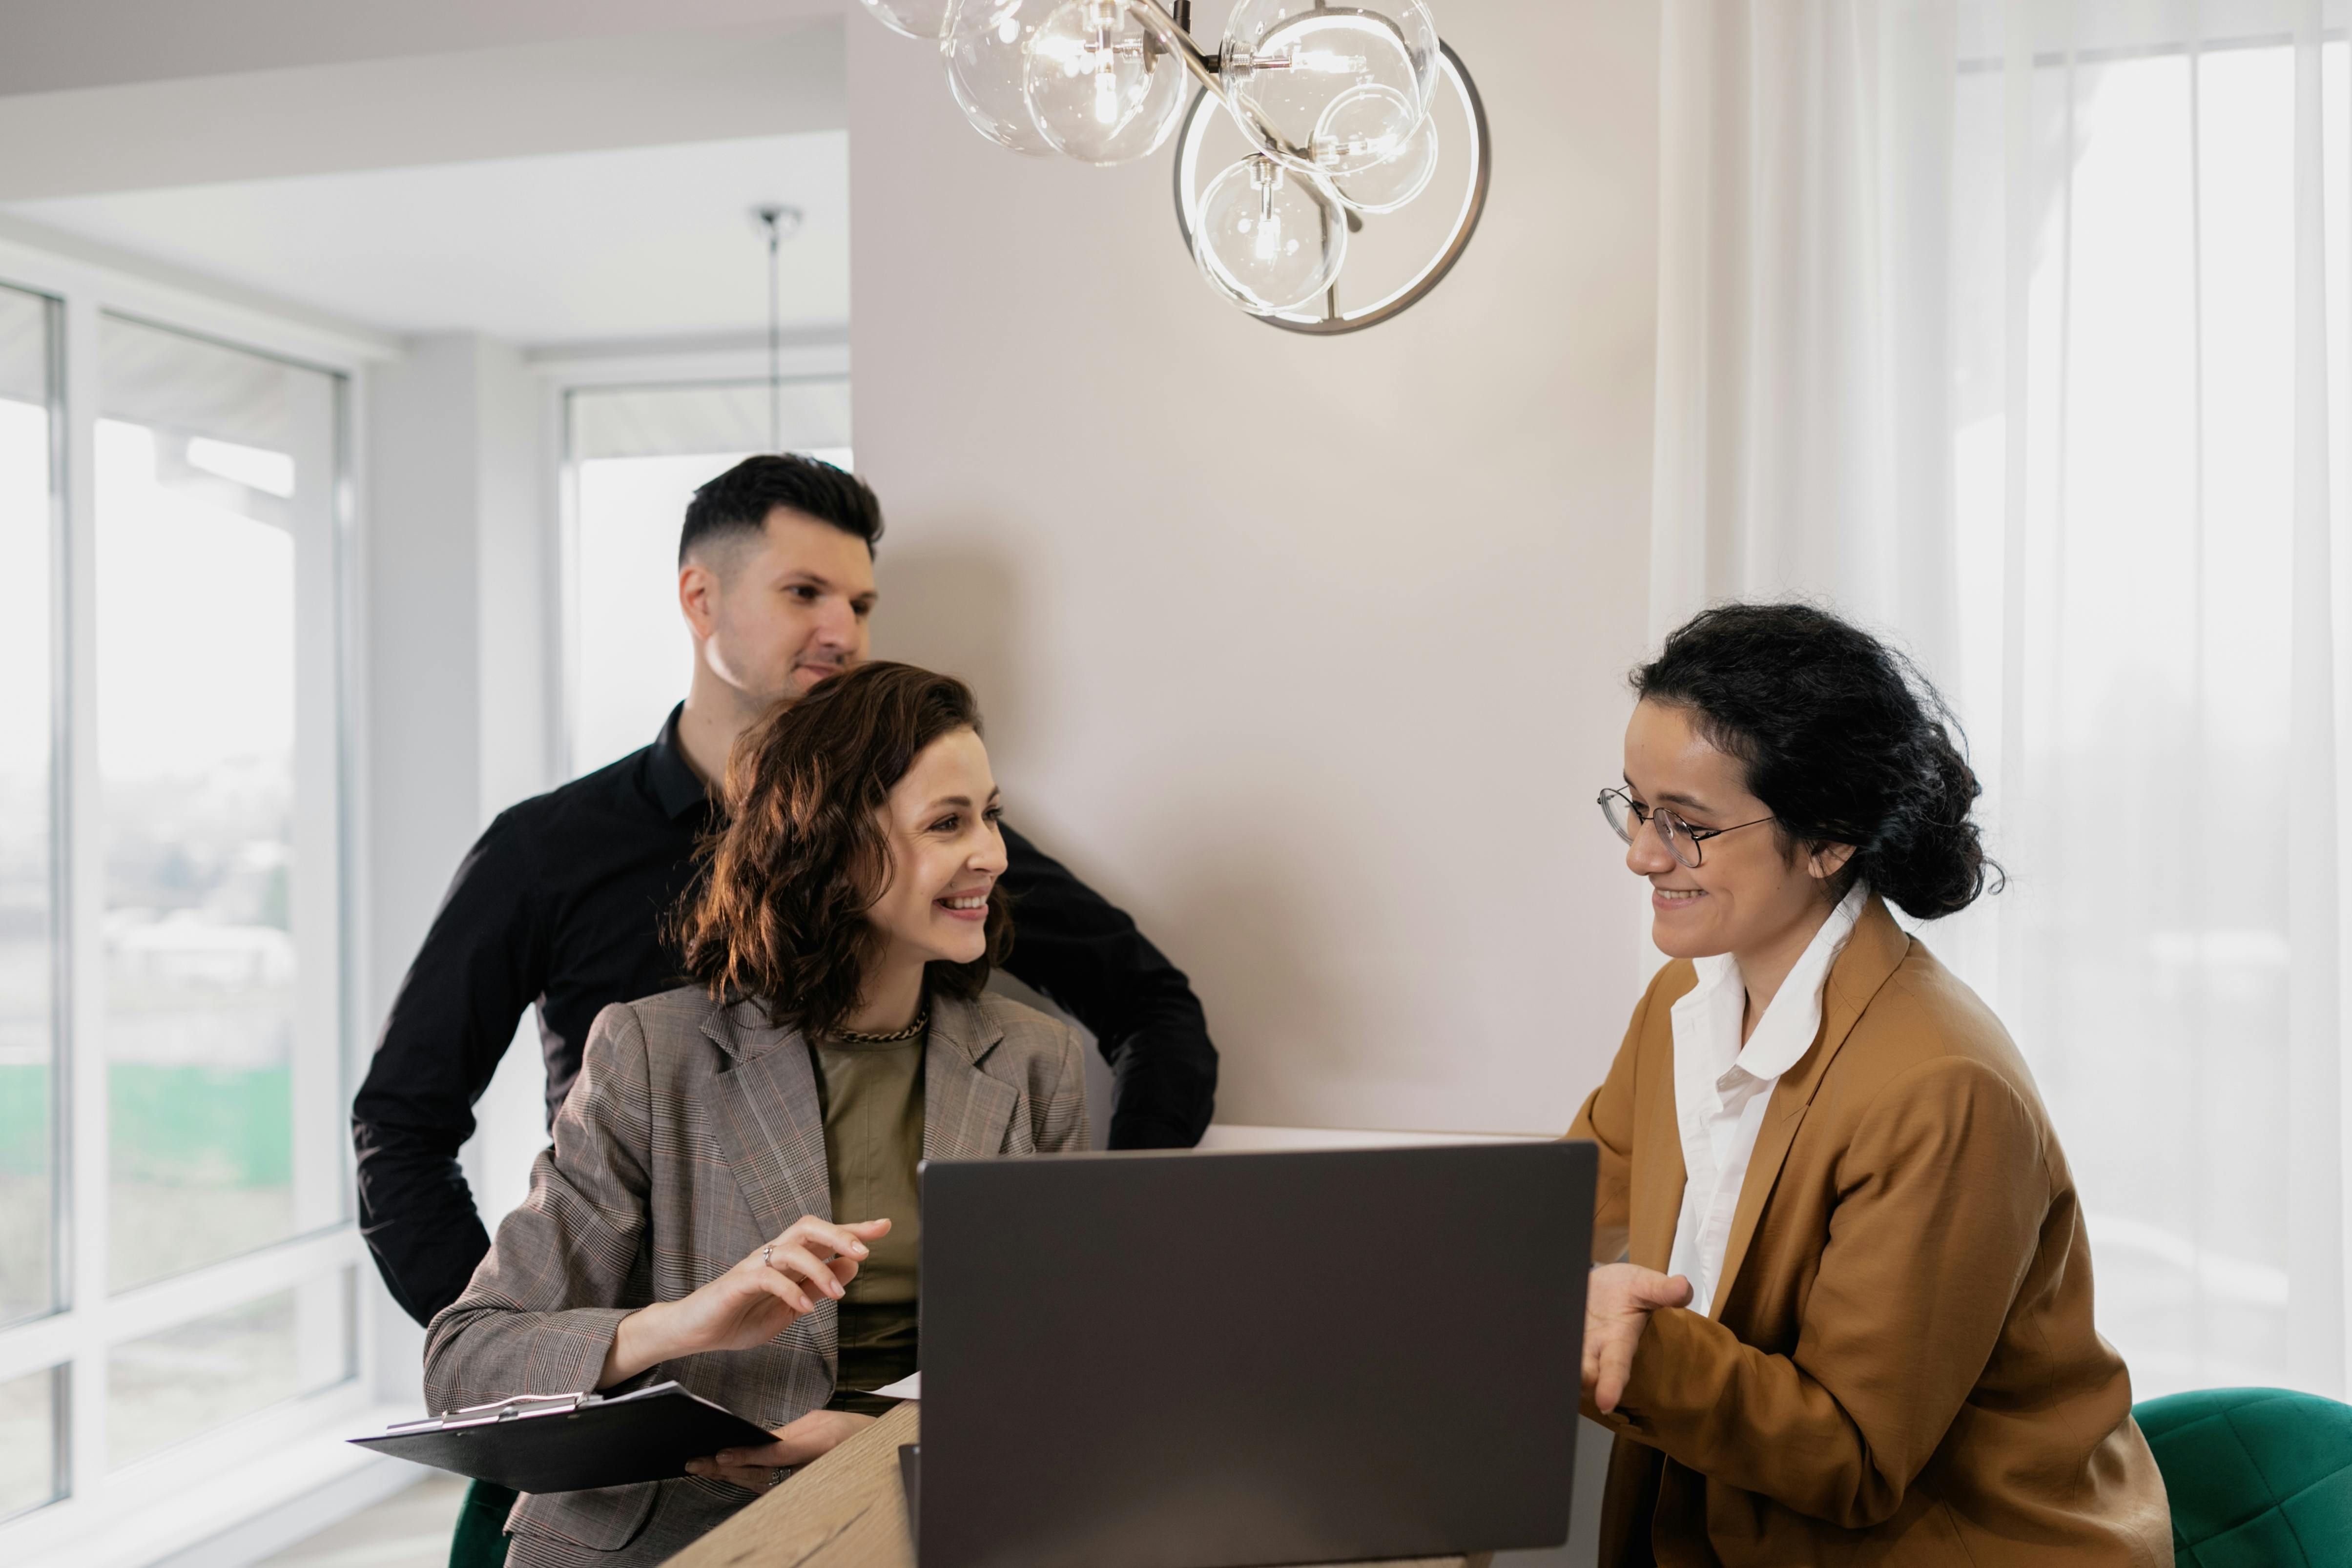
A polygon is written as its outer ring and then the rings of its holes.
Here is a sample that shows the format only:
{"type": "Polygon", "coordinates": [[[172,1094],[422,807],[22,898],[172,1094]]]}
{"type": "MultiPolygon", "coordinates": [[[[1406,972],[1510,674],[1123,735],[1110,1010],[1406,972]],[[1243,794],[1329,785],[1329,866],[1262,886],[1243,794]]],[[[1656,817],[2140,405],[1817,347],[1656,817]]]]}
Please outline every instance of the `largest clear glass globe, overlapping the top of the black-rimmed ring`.
{"type": "Polygon", "coordinates": [[[1430,113],[1437,61],[1437,24],[1421,0],[1242,0],[1225,21],[1221,75],[1244,136],[1279,162],[1336,176],[1404,150],[1430,113]],[[1352,101],[1345,134],[1327,134],[1343,99],[1352,101]]]}

